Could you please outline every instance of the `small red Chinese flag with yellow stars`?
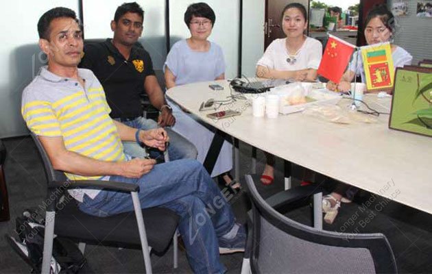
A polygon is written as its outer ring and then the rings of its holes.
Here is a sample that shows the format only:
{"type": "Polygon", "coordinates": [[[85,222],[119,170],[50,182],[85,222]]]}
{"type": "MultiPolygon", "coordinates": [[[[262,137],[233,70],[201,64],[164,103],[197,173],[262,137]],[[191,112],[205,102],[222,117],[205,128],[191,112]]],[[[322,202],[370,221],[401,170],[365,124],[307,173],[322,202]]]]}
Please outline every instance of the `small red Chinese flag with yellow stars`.
{"type": "Polygon", "coordinates": [[[346,70],[355,46],[336,36],[329,35],[326,49],[322,54],[318,74],[339,84],[346,70]]]}

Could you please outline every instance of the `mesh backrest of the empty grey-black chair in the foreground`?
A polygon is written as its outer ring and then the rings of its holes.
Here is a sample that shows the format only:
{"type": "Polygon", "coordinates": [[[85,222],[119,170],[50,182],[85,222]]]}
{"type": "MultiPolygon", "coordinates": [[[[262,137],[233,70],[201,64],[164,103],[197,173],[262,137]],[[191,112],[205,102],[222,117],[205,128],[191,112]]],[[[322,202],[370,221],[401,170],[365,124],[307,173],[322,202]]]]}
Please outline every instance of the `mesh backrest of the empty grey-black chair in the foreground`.
{"type": "Polygon", "coordinates": [[[246,175],[252,200],[253,273],[396,273],[383,234],[326,232],[276,212],[246,175]]]}

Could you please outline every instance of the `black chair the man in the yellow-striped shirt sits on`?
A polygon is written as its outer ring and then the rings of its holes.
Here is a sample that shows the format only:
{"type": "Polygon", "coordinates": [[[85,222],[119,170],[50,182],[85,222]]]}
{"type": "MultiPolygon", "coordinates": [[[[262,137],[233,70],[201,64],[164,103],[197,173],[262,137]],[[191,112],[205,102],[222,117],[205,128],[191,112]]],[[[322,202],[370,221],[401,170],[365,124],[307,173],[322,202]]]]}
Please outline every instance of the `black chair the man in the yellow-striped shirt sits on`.
{"type": "MultiPolygon", "coordinates": [[[[48,155],[38,137],[32,133],[38,147],[47,176],[47,212],[42,273],[49,273],[49,262],[53,247],[53,234],[80,242],[84,253],[85,243],[141,248],[146,273],[152,273],[150,251],[163,253],[176,232],[178,216],[166,208],[141,210],[138,198],[139,186],[110,181],[71,181],[61,171],[53,169],[48,155]],[[99,218],[85,214],[77,207],[75,199],[68,197],[70,188],[95,187],[105,190],[130,192],[134,212],[99,218]],[[63,196],[66,193],[65,196],[63,196]],[[60,199],[67,197],[69,199],[60,199]],[[66,200],[66,201],[62,201],[66,200]],[[58,204],[61,206],[58,206],[58,204]]],[[[176,247],[174,247],[176,253],[176,247]]],[[[174,255],[176,257],[176,254],[174,255]]],[[[176,264],[176,260],[175,260],[176,264]]]]}

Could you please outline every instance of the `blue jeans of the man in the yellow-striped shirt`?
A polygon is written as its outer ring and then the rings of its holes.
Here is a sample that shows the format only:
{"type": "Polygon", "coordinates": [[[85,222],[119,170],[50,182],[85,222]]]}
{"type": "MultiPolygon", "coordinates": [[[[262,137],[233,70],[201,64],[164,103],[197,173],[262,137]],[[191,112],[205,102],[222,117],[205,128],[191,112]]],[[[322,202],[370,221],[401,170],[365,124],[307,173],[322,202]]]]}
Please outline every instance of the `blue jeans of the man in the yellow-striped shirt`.
{"type": "MultiPolygon", "coordinates": [[[[226,197],[196,160],[156,164],[139,179],[111,176],[110,181],[138,184],[141,208],[169,208],[180,216],[178,229],[194,273],[224,273],[218,238],[230,232],[235,217],[226,197]]],[[[95,199],[84,195],[80,210],[110,216],[134,210],[129,193],[101,190],[95,199]]]]}

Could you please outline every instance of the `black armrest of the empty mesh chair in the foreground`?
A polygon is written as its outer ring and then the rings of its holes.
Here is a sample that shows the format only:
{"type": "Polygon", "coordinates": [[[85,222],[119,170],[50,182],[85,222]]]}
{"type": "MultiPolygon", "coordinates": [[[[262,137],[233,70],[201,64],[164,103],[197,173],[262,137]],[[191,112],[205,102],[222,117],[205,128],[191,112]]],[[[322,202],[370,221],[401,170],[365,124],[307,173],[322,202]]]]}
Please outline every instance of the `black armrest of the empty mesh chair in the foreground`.
{"type": "Polygon", "coordinates": [[[287,189],[283,192],[278,192],[265,199],[265,201],[277,210],[289,203],[299,201],[301,199],[307,199],[312,195],[323,192],[323,189],[316,185],[310,186],[296,186],[295,188],[287,189]]]}

